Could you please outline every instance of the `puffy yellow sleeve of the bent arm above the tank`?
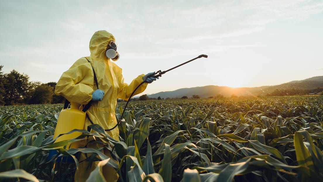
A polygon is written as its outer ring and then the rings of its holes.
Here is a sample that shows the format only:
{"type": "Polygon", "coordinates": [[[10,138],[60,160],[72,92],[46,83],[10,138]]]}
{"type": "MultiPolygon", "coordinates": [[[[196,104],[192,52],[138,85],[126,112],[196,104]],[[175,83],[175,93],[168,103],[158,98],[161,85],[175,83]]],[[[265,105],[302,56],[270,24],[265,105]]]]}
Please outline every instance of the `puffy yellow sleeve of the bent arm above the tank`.
{"type": "Polygon", "coordinates": [[[55,87],[56,95],[78,104],[87,104],[92,99],[94,75],[91,64],[84,60],[79,59],[62,74],[55,87]]]}

